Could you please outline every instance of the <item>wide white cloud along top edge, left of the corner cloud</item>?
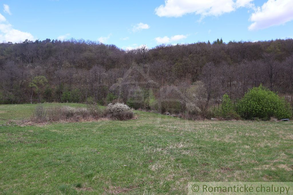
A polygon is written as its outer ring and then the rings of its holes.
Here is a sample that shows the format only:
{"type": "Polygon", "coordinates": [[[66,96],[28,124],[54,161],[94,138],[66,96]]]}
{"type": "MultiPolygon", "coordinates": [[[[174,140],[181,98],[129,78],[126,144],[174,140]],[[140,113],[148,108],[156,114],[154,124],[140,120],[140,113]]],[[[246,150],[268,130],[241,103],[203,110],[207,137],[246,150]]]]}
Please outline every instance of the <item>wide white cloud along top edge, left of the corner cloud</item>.
{"type": "Polygon", "coordinates": [[[236,8],[253,5],[253,0],[166,0],[165,5],[155,9],[158,16],[180,17],[188,13],[205,16],[219,16],[235,11],[236,8]]]}

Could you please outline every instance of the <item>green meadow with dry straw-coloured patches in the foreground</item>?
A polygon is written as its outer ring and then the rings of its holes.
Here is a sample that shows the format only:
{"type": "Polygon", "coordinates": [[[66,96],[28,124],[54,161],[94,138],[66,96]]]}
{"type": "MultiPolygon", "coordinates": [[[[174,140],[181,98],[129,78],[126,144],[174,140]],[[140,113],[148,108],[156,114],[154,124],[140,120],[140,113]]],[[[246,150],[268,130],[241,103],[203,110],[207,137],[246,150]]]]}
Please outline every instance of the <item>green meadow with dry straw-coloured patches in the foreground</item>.
{"type": "Polygon", "coordinates": [[[35,106],[0,105],[0,194],[186,194],[189,181],[293,181],[292,122],[135,111],[128,121],[4,125],[35,106]]]}

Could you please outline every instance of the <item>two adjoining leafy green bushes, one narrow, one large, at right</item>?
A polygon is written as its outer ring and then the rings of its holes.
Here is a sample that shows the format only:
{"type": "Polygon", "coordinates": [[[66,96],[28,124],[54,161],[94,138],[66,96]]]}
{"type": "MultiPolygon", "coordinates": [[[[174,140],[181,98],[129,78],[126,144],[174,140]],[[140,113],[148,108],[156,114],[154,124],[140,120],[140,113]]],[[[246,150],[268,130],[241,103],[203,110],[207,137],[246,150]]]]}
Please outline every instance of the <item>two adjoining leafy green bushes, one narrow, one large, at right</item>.
{"type": "Polygon", "coordinates": [[[227,94],[213,116],[223,119],[271,120],[292,117],[292,108],[276,93],[260,85],[253,87],[234,105],[227,94]]]}

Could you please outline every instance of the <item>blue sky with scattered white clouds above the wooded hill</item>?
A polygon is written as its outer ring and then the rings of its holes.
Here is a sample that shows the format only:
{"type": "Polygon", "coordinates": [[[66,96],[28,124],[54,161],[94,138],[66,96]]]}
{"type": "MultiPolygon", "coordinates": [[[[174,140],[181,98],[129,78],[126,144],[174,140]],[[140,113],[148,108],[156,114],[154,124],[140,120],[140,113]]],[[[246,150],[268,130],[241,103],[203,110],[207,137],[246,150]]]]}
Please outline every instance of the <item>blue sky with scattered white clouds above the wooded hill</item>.
{"type": "Polygon", "coordinates": [[[293,0],[0,0],[0,42],[146,45],[293,38],[293,0]]]}

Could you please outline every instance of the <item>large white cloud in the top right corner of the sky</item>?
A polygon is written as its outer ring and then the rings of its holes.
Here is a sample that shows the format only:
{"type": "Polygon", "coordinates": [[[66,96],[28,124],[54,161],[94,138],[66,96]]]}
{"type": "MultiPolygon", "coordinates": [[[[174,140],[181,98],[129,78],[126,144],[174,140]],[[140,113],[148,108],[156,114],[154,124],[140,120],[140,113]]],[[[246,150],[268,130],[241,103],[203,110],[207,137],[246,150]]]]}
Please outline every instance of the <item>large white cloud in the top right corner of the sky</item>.
{"type": "Polygon", "coordinates": [[[252,13],[248,30],[259,30],[293,20],[292,0],[268,0],[252,13]]]}

